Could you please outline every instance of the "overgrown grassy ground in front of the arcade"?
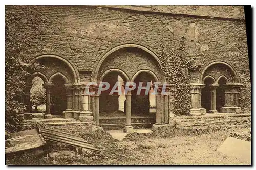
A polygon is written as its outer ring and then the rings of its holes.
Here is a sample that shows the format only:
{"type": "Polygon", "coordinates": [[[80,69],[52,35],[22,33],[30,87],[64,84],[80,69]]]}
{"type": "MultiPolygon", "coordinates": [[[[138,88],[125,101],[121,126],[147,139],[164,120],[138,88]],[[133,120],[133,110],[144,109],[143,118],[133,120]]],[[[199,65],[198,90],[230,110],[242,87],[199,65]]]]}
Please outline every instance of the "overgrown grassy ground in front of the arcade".
{"type": "Polygon", "coordinates": [[[230,132],[250,131],[248,128],[227,130],[177,130],[161,128],[150,134],[129,134],[122,141],[105,131],[81,134],[102,149],[99,154],[75,154],[71,151],[50,153],[49,158],[24,154],[7,164],[46,165],[230,165],[250,164],[217,152],[230,132]]]}

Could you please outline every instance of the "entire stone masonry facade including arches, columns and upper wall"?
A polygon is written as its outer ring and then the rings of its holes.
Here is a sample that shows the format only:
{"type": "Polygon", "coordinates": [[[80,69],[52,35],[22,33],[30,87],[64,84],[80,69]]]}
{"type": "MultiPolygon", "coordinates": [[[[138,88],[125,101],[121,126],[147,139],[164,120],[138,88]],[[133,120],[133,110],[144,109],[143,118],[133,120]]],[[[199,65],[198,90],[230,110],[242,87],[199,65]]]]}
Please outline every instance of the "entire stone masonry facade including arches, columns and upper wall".
{"type": "MultiPolygon", "coordinates": [[[[28,77],[28,84],[35,76],[44,80],[48,90],[45,118],[51,118],[50,95],[56,75],[65,81],[67,110],[63,116],[94,121],[96,127],[99,96],[84,94],[85,85],[100,82],[111,72],[127,81],[146,72],[152,81],[168,84],[167,95],[157,96],[156,125],[169,124],[173,114],[202,116],[190,118],[193,121],[204,119],[207,102],[209,112],[217,114],[242,114],[250,102],[243,6],[6,6],[6,15],[16,21],[12,29],[24,33],[15,38],[32,42],[20,55],[47,67],[28,77]],[[211,84],[205,86],[209,79],[211,84]],[[210,100],[202,102],[206,88],[210,100]],[[218,88],[224,89],[223,95],[218,88]],[[216,96],[225,100],[222,106],[216,106],[216,96]]],[[[125,127],[132,129],[131,94],[126,98],[125,127]]],[[[177,125],[186,126],[179,118],[177,125]]]]}

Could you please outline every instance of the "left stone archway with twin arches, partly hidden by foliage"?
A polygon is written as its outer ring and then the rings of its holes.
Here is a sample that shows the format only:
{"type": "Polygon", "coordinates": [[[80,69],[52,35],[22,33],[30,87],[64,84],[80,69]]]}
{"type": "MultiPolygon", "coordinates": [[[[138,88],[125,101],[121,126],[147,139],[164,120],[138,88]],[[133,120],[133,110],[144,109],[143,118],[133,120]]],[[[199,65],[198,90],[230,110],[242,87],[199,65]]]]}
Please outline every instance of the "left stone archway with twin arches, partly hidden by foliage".
{"type": "MultiPolygon", "coordinates": [[[[74,64],[63,56],[58,56],[54,54],[43,54],[35,57],[32,61],[37,62],[39,65],[44,66],[43,69],[35,70],[31,72],[31,75],[27,78],[27,91],[31,88],[31,81],[33,77],[39,76],[44,80],[44,88],[46,89],[46,113],[45,118],[51,118],[51,93],[54,83],[57,78],[61,79],[62,82],[62,94],[67,95],[66,108],[67,110],[63,112],[63,116],[74,117],[73,110],[79,110],[79,89],[75,88],[75,84],[80,82],[79,72],[74,66],[74,64]],[[66,90],[67,89],[67,93],[66,90]],[[78,95],[77,95],[78,94],[78,95]],[[74,98],[74,100],[73,100],[74,98]],[[70,105],[71,104],[71,105],[70,105]],[[77,107],[78,106],[78,107],[77,107]],[[69,110],[68,110],[69,109],[69,110]]],[[[56,84],[56,83],[55,83],[56,84]]],[[[28,94],[29,99],[29,94],[28,94]]],[[[28,103],[28,100],[25,103],[28,103]]]]}

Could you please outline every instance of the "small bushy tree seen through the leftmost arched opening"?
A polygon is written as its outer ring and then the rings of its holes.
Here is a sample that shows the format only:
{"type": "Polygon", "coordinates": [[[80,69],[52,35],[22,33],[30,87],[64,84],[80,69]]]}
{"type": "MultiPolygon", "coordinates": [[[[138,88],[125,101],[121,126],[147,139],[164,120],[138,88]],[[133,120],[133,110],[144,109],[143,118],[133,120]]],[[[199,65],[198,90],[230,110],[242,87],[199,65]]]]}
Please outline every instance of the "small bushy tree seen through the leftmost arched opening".
{"type": "Polygon", "coordinates": [[[46,104],[46,90],[42,87],[44,81],[40,77],[35,77],[32,80],[32,88],[30,90],[30,102],[32,106],[35,107],[35,111],[37,111],[37,107],[39,105],[46,104]]]}

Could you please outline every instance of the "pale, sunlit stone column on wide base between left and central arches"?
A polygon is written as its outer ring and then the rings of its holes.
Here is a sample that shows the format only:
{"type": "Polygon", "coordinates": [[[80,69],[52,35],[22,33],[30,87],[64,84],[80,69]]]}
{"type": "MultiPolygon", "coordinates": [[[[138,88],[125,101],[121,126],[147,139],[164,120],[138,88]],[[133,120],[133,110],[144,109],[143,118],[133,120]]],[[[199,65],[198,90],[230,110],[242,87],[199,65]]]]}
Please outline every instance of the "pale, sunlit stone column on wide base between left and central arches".
{"type": "Polygon", "coordinates": [[[80,87],[80,94],[81,111],[77,119],[82,121],[92,121],[92,112],[89,110],[89,87],[82,85],[80,87]]]}

